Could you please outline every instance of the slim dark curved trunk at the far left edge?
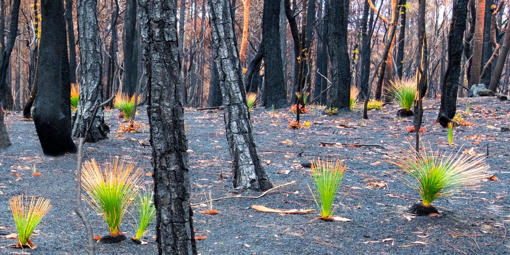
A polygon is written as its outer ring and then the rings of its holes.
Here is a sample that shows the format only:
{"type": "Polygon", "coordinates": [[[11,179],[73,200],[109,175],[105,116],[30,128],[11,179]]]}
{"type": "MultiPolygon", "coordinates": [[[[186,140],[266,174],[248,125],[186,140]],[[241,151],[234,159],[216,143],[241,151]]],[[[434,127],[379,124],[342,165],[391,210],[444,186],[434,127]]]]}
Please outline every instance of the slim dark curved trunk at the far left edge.
{"type": "MultiPolygon", "coordinates": [[[[20,0],[15,0],[12,2],[11,7],[11,24],[9,26],[9,37],[7,38],[7,43],[4,45],[0,45],[0,108],[10,109],[12,108],[12,104],[8,104],[8,97],[10,94],[10,86],[7,86],[7,74],[9,71],[9,61],[11,59],[12,48],[14,47],[14,42],[16,41],[16,35],[18,33],[18,17],[19,17],[19,5],[20,0]]],[[[3,7],[5,8],[5,7],[3,7]]],[[[2,8],[2,9],[3,9],[2,8]]],[[[0,17],[4,20],[4,16],[0,17]]],[[[3,27],[4,25],[2,25],[3,27]]],[[[4,28],[0,28],[4,29],[4,28]]],[[[4,42],[4,34],[2,33],[2,42],[4,42]]],[[[12,97],[12,95],[11,95],[12,97]]]]}

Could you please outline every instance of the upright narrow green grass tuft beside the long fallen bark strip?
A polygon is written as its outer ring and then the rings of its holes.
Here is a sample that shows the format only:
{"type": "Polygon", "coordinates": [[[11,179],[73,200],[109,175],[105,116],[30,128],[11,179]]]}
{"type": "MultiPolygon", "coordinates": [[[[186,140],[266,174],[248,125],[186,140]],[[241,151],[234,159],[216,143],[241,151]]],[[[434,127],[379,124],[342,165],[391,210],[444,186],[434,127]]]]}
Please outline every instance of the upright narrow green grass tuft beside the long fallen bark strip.
{"type": "Polygon", "coordinates": [[[319,208],[321,218],[331,219],[336,209],[336,207],[333,207],[333,201],[342,183],[345,166],[339,160],[333,164],[333,162],[321,160],[320,158],[317,162],[312,161],[311,165],[312,171],[310,175],[315,184],[317,195],[310,186],[308,188],[312,192],[315,203],[319,208]]]}

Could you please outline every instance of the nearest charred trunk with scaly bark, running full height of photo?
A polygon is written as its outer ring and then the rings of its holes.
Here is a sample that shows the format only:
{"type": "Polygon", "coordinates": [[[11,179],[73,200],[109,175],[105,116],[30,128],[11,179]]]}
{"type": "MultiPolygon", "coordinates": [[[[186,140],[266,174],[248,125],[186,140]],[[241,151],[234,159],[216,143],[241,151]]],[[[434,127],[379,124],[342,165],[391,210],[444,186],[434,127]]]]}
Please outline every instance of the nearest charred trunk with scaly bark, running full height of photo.
{"type": "Polygon", "coordinates": [[[176,7],[167,0],[140,0],[139,4],[142,61],[149,84],[158,253],[196,254],[176,7]]]}

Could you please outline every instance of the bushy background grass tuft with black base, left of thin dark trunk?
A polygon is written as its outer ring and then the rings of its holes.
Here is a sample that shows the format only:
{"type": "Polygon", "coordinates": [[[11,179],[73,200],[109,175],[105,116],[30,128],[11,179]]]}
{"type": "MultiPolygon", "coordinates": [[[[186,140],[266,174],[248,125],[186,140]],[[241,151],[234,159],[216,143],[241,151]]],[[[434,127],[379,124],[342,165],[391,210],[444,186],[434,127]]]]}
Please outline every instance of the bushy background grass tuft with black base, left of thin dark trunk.
{"type": "Polygon", "coordinates": [[[414,105],[416,82],[411,78],[392,80],[388,86],[388,93],[397,101],[400,108],[410,111],[414,105]]]}

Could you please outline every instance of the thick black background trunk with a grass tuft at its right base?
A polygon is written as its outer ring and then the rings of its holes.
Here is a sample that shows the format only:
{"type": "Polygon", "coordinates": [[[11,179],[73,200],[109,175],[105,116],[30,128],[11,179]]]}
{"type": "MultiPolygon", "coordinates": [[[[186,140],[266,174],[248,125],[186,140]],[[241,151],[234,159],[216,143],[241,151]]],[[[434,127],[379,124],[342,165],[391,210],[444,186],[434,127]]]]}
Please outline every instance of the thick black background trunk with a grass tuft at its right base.
{"type": "Polygon", "coordinates": [[[327,107],[349,110],[350,59],[347,53],[348,0],[328,0],[326,6],[328,39],[331,59],[331,90],[327,107]]]}

